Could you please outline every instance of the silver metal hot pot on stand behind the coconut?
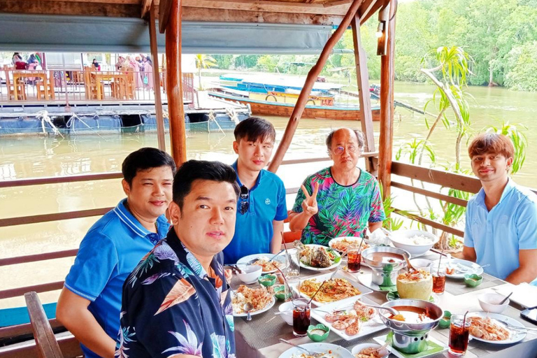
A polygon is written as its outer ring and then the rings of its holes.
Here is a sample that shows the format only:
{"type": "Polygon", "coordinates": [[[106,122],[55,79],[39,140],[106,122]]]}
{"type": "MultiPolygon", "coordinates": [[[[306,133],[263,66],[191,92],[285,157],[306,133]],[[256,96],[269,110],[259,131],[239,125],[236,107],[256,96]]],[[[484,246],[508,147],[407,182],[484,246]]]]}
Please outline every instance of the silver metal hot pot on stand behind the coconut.
{"type": "Polygon", "coordinates": [[[396,262],[381,262],[374,259],[376,252],[391,252],[392,254],[397,255],[408,255],[408,251],[392,248],[390,246],[375,246],[375,248],[368,248],[361,252],[361,257],[364,259],[364,263],[371,267],[373,270],[373,277],[371,281],[379,286],[394,286],[397,282],[397,275],[399,275],[399,270],[406,267],[406,261],[396,260],[396,262]]]}

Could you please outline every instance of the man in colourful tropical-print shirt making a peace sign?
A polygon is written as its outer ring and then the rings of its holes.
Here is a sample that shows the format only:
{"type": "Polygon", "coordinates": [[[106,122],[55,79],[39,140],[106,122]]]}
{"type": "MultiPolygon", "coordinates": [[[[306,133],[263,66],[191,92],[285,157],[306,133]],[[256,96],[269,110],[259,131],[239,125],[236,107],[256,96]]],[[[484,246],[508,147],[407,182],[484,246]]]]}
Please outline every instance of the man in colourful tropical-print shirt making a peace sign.
{"type": "Polygon", "coordinates": [[[327,137],[334,162],[304,180],[289,214],[289,229],[301,241],[328,246],[338,236],[364,236],[386,219],[377,180],[357,167],[364,148],[361,131],[341,128],[327,137]]]}

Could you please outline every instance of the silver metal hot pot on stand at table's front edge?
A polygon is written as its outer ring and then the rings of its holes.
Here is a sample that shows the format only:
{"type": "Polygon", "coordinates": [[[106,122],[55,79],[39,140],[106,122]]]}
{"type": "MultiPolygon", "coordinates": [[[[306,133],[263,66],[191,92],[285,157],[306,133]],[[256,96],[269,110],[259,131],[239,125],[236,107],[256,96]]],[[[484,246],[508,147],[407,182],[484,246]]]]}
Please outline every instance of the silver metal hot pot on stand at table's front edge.
{"type": "Polygon", "coordinates": [[[390,320],[389,312],[386,310],[380,310],[380,319],[386,325],[386,327],[394,331],[393,346],[396,350],[403,353],[415,354],[427,350],[427,338],[429,338],[429,331],[435,329],[438,326],[438,322],[443,317],[443,310],[440,306],[429,301],[422,301],[420,299],[396,299],[394,301],[386,302],[382,307],[394,307],[394,306],[413,306],[420,308],[428,308],[431,315],[432,322],[425,323],[407,323],[398,320],[390,320]]]}

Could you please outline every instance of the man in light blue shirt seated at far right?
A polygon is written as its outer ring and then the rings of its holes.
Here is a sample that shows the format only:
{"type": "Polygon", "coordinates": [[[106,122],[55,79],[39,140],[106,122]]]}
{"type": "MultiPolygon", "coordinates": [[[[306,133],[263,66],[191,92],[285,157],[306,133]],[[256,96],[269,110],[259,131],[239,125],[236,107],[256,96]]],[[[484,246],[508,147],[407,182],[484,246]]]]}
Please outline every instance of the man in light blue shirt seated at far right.
{"type": "Polygon", "coordinates": [[[509,178],[515,149],[501,134],[481,134],[468,148],[482,188],[468,201],[464,259],[515,285],[537,284],[537,196],[509,178]]]}

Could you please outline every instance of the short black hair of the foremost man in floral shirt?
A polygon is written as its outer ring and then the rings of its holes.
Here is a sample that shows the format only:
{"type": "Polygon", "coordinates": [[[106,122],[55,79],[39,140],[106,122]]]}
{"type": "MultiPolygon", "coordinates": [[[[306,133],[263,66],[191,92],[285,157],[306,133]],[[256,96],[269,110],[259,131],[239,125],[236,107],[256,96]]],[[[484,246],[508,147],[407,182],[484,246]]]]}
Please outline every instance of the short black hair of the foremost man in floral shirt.
{"type": "Polygon", "coordinates": [[[233,185],[235,196],[238,199],[240,189],[237,183],[237,174],[231,166],[221,162],[191,159],[179,167],[175,178],[173,178],[173,201],[180,209],[182,209],[185,196],[192,189],[194,180],[229,182],[233,185]]]}

